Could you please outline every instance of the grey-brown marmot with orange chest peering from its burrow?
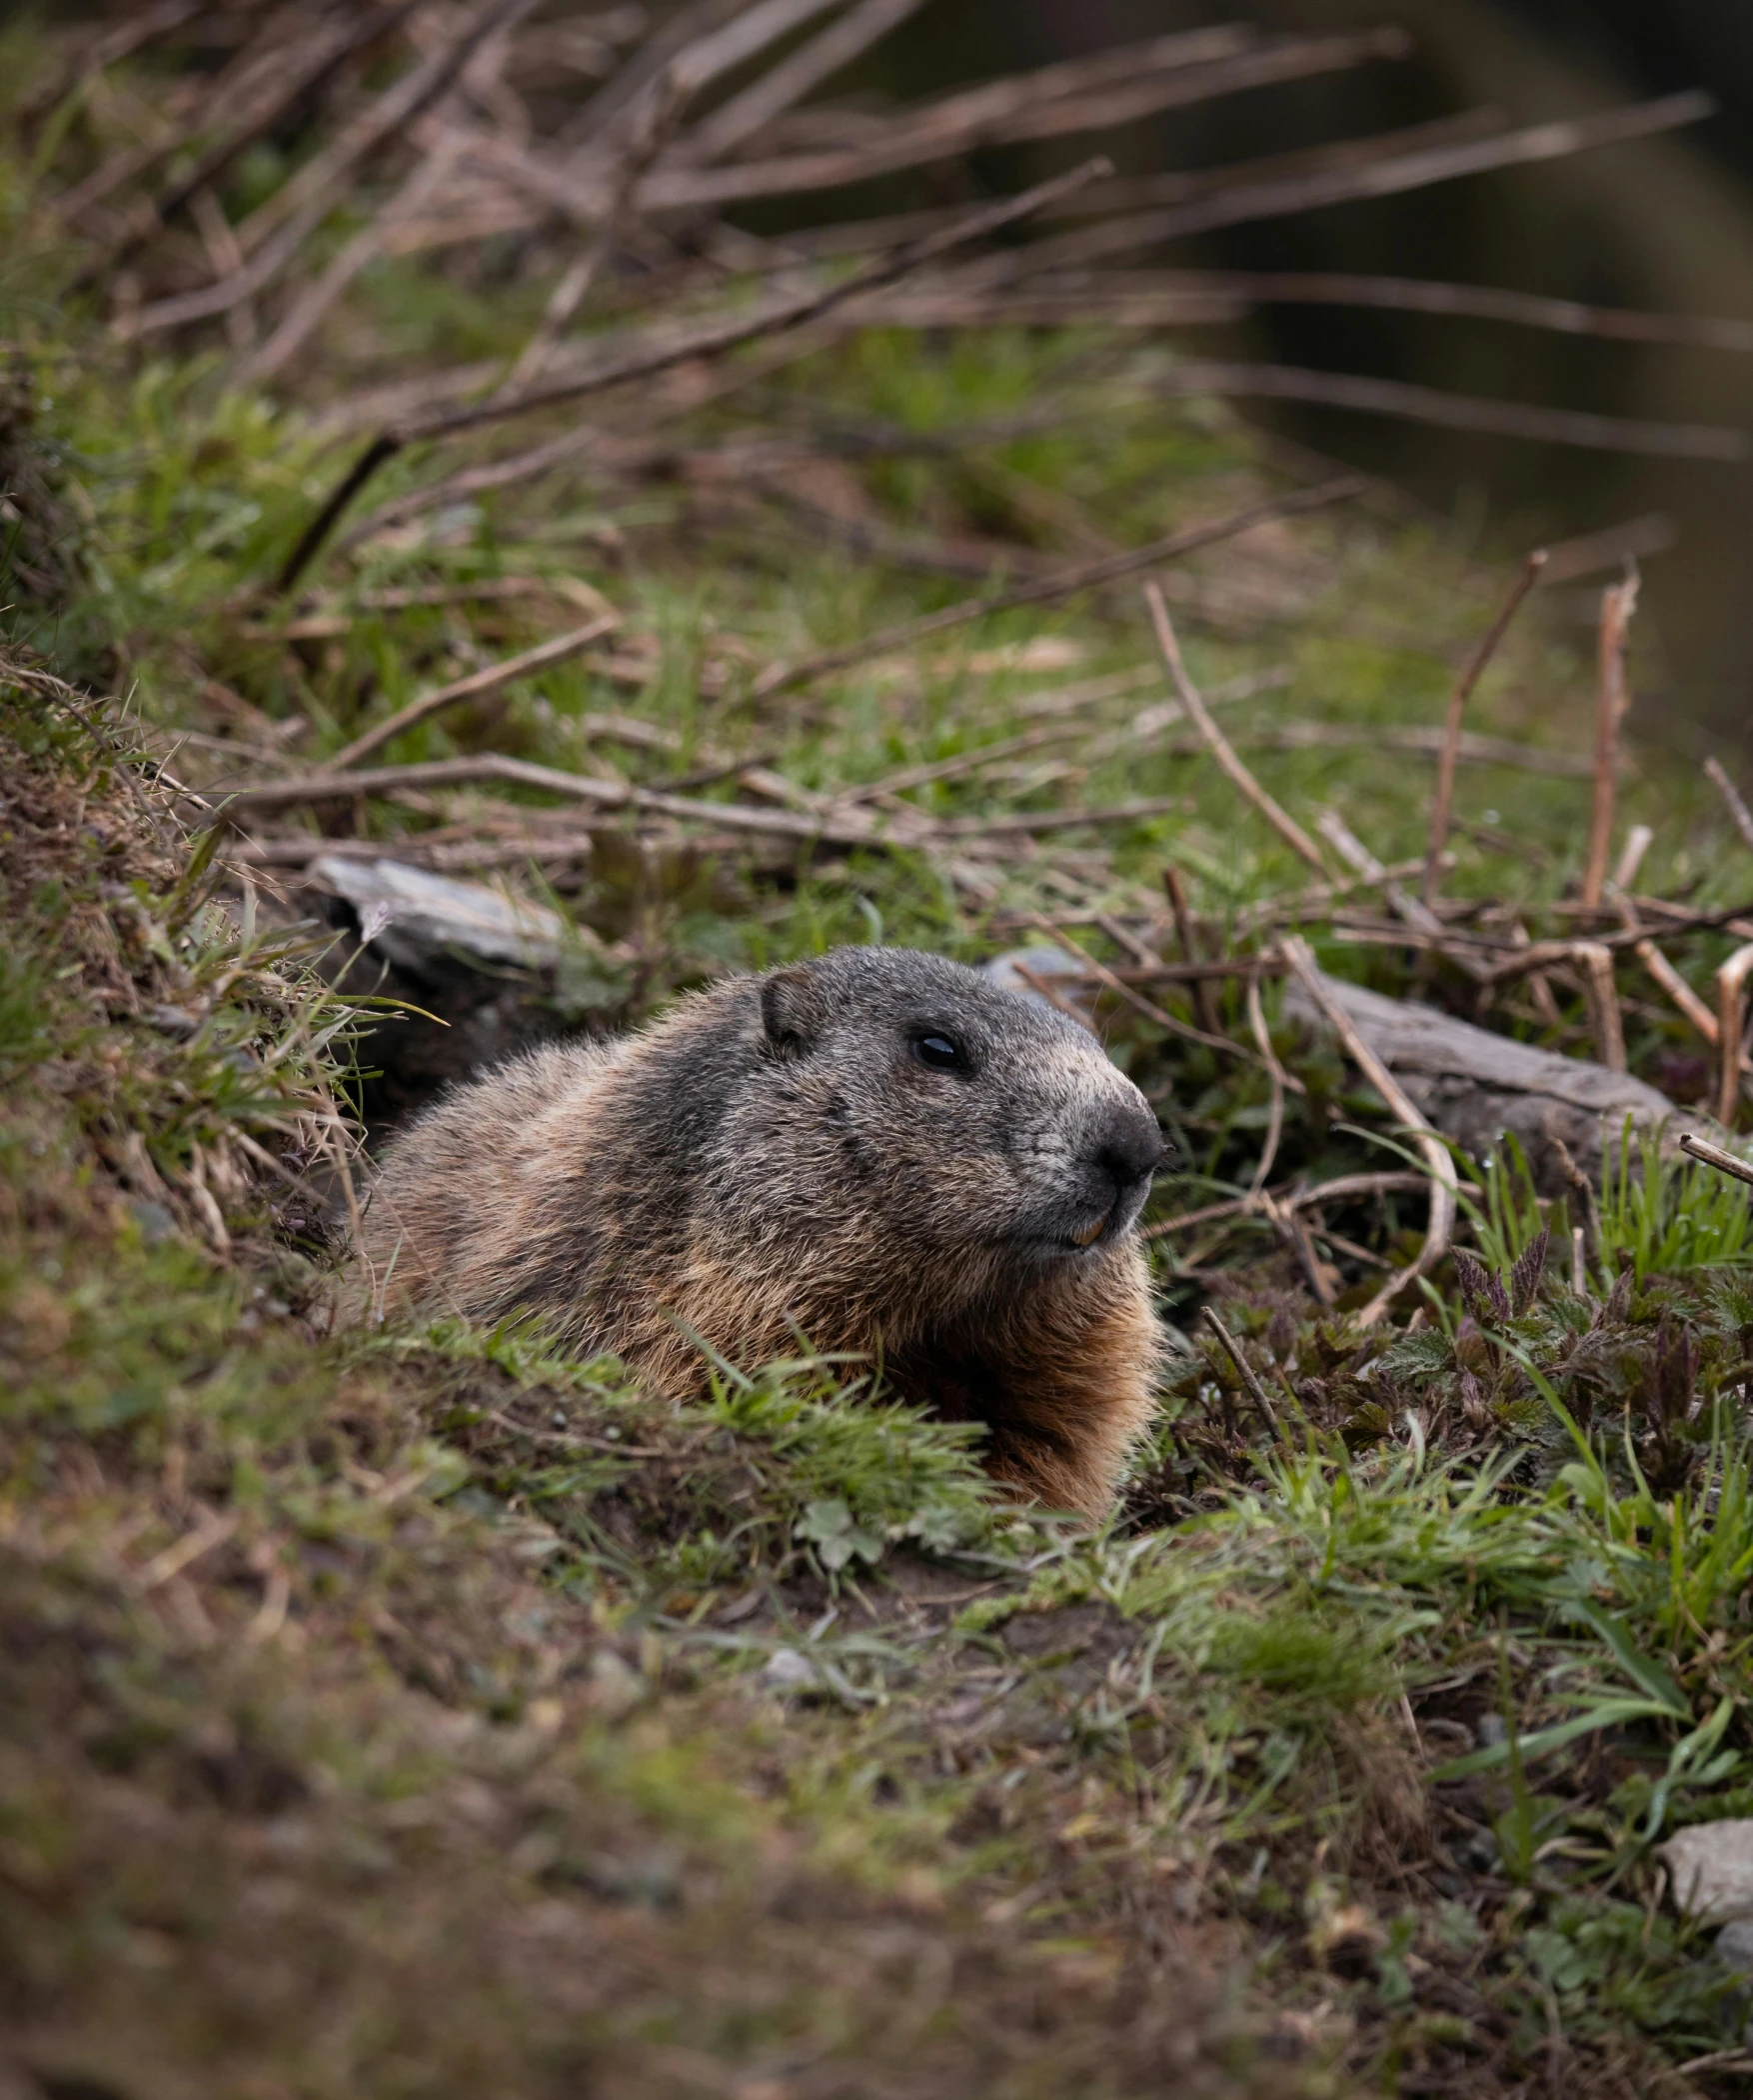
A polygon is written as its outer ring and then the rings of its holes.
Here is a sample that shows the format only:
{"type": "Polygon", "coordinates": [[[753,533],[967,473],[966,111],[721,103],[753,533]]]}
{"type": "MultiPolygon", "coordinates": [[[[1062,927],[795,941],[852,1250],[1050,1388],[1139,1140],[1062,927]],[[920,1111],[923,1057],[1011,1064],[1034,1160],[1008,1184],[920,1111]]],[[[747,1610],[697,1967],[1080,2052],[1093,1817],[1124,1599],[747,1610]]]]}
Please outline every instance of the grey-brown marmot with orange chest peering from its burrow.
{"type": "Polygon", "coordinates": [[[537,1310],[678,1396],[701,1342],[875,1359],[983,1422],[997,1478],[1096,1516],[1150,1413],[1161,1159],[1075,1021],[943,956],[840,947],[458,1086],[388,1147],[365,1254],[378,1289],[537,1310]]]}

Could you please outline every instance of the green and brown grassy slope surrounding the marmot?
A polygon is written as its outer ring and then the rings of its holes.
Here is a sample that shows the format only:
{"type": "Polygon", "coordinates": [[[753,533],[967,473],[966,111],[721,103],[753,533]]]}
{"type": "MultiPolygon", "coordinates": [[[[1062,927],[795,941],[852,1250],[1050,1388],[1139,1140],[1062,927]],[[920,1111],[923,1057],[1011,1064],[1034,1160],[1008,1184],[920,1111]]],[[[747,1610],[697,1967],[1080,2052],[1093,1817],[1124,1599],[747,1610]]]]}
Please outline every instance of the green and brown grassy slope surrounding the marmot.
{"type": "MultiPolygon", "coordinates": [[[[516,342],[516,300],[540,304],[395,271],[367,294],[313,393],[516,342]]],[[[1201,1359],[1178,1382],[1180,1445],[1140,1460],[1132,1520],[1094,1541],[995,1506],[953,1436],[836,1403],[800,1367],[678,1420],[533,1338],[330,1336],[332,1281],[288,1250],[292,1199],[239,1132],[311,1151],[317,1037],[346,1014],[204,903],[136,752],[164,748],[155,729],[223,729],[214,678],[269,720],[304,714],[313,758],[468,649],[544,626],[445,609],[323,647],[252,638],[235,594],[334,454],[210,370],[134,365],[25,302],[15,334],[38,401],[17,456],[42,477],[31,517],[55,521],[13,548],[29,565],[15,640],[128,689],[141,724],[42,680],[4,693],[0,2024],[44,2090],[754,2100],[1423,2075],[1608,2092],[1732,2048],[1724,1978],[1663,1915],[1646,1856],[1675,1816],[1753,1800],[1736,1705],[1753,1508],[1726,1399],[1753,1304],[1732,1275],[1646,1283],[1652,1260],[1608,1304],[1551,1285],[1518,1319],[1476,1304],[1470,1329],[1446,1285],[1434,1329],[1360,1380],[1262,1254],[1230,1285],[1237,1319],[1325,1380],[1306,1445],[1251,1447],[1232,1380],[1201,1359]],[[1696,1420],[1669,1405],[1665,1306],[1696,1342],[1696,1420]],[[1522,1359],[1572,1415],[1623,1411],[1642,1474],[1570,1445],[1522,1359]],[[1514,1478],[1480,1455],[1474,1394],[1524,1453],[1514,1478]],[[1423,1460],[1388,1434],[1400,1401],[1423,1460]],[[1619,1737],[1423,1779],[1482,1716],[1526,1732],[1583,1697],[1627,1703],[1619,1737]]],[[[1138,540],[1262,483],[1216,418],[1100,414],[1077,361],[1106,349],[869,336],[777,376],[766,410],[959,428],[1083,388],[1085,414],[1043,437],[867,470],[861,502],[896,531],[928,519],[1064,554],[1094,521],[1138,540]]],[[[705,443],[735,422],[689,428],[705,443]]],[[[1014,731],[1064,682],[983,672],[972,651],[1056,634],[1075,676],[1142,657],[1115,601],[989,622],[808,708],[703,701],[703,653],[852,638],[959,586],[773,519],[701,523],[663,483],[554,479],[437,544],[378,546],[349,588],[481,571],[584,575],[661,672],[636,699],[556,672],[393,756],[577,764],[569,718],[611,706],[775,754],[804,785],[875,779],[1014,731]]],[[[1491,592],[1438,536],[1352,519],[1197,563],[1178,603],[1203,611],[1207,685],[1291,668],[1241,724],[1369,727],[1434,718],[1491,592]]],[[[1583,710],[1577,666],[1530,624],[1480,727],[1562,731],[1583,710]]],[[[1423,775],[1409,792],[1404,758],[1260,771],[1300,813],[1339,800],[1384,857],[1417,850],[1423,775]]],[[[1073,785],[1184,808],[1102,840],[1102,863],[1020,865],[1004,905],[1062,901],[1064,874],[1125,903],[1165,855],[1213,916],[1302,880],[1203,764],[1132,750],[1073,785]]],[[[985,779],[926,800],[978,815],[1054,792],[985,779]]],[[[1703,872],[1701,895],[1728,901],[1688,794],[1631,792],[1661,821],[1650,884],[1703,872]]],[[[1551,895],[1581,796],[1470,775],[1470,811],[1549,859],[1463,842],[1457,886],[1551,895]]],[[[569,909],[634,928],[628,1014],[703,968],[875,924],[991,945],[968,895],[907,857],[739,872],[733,909],[687,855],[632,888],[598,865],[569,909]]],[[[1323,949],[1352,974],[1371,962],[1323,949]]],[[[1171,1086],[1192,1168],[1245,1178],[1264,1088],[1148,1029],[1115,1042],[1171,1086]]],[[[1638,1048],[1654,1054],[1654,1023],[1638,1048]]],[[[1314,1084],[1285,1166],[1365,1163],[1321,1115],[1337,1067],[1285,1050],[1314,1084]]],[[[1493,1224],[1495,1252],[1520,1252],[1526,1208],[1493,1224]]],[[[1169,1308],[1192,1302],[1163,1283],[1169,1308]]]]}

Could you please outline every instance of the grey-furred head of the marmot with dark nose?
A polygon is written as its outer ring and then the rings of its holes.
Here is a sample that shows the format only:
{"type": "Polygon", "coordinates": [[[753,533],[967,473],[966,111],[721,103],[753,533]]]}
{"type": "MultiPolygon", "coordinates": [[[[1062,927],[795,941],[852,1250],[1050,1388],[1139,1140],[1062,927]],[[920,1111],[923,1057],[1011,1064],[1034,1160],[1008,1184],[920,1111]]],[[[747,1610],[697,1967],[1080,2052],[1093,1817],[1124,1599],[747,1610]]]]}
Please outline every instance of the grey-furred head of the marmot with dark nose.
{"type": "Polygon", "coordinates": [[[892,947],[770,970],[741,1012],[754,1056],[712,1147],[712,1208],[812,1281],[857,1289],[875,1258],[892,1287],[911,1258],[943,1304],[1129,1241],[1163,1136],[1064,1014],[892,947]]]}

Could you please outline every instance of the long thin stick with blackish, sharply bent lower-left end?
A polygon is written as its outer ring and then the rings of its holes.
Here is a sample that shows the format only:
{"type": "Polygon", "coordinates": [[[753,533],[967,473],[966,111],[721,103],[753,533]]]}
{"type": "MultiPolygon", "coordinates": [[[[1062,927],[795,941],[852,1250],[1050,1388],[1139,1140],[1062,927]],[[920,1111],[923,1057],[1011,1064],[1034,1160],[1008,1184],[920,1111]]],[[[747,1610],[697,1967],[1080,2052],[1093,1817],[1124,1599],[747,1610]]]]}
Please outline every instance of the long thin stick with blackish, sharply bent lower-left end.
{"type": "Polygon", "coordinates": [[[1043,206],[1073,189],[1081,189],[1083,183],[1092,183],[1098,174],[1106,172],[1108,162],[1085,162],[1081,168],[1073,168],[1071,174],[1060,174],[1050,183],[1037,183],[1035,189],[1025,191],[1020,197],[970,212],[941,233],[932,233],[907,248],[896,248],[869,269],[842,277],[840,284],[808,292],[802,298],[783,300],[775,307],[762,309],[760,313],[720,323],[718,328],[678,336],[663,344],[647,346],[645,351],[632,351],[626,357],[598,365],[594,372],[582,374],[579,378],[565,380],[554,386],[531,386],[523,393],[483,401],[479,407],[453,410],[445,416],[428,416],[401,426],[390,424],[372,439],[321,506],[317,517],[304,529],[298,546],[292,550],[279,573],[275,584],[277,594],[283,596],[294,588],[353,498],[386,460],[393,460],[407,445],[437,437],[458,437],[464,430],[479,430],[483,424],[500,422],[506,416],[525,416],[544,407],[561,407],[571,401],[582,401],[586,395],[605,393],[611,386],[624,386],[628,380],[655,378],[659,372],[670,372],[674,365],[691,363],[695,357],[722,357],[728,351],[741,349],[745,342],[756,342],[760,336],[802,328],[808,321],[817,321],[825,313],[831,313],[836,307],[842,307],[846,300],[857,298],[861,292],[892,284],[896,277],[924,269],[928,262],[936,262],[941,256],[966,246],[968,242],[983,242],[989,235],[1004,231],[1004,227],[1033,216],[1043,210],[1043,206]]]}

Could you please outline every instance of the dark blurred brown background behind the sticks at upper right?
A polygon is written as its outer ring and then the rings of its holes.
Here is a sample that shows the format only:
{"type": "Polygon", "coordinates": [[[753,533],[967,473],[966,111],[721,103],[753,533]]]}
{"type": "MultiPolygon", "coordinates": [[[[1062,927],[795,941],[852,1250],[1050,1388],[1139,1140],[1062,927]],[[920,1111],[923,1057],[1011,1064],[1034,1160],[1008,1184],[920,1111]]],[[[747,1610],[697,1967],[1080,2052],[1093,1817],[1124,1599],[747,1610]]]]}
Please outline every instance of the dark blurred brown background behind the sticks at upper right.
{"type": "MultiPolygon", "coordinates": [[[[1738,0],[955,0],[924,8],[867,84],[924,92],[1245,13],[1276,32],[1402,23],[1407,59],[1146,118],[1104,134],[1125,172],[1205,168],[1493,107],[1512,124],[1705,88],[1686,130],[1400,197],[1195,235],[1178,267],[1365,271],[1505,286],[1600,307],[1753,315],[1753,10],[1738,0]]],[[[1079,143],[1018,149],[1031,168],[1079,143]]],[[[995,158],[993,174],[1001,172],[995,158]]],[[[1004,170],[1014,172],[1014,170],[1004,170]]],[[[1205,340],[1201,338],[1201,349],[1205,340]]],[[[1539,334],[1484,319],[1264,307],[1211,355],[1367,372],[1453,393],[1661,422],[1753,424],[1753,357],[1539,334]]],[[[1747,466],[1581,452],[1335,407],[1243,414],[1388,475],[1480,554],[1661,519],[1648,559],[1635,729],[1703,752],[1753,737],[1753,481],[1747,466]],[[1661,647],[1650,647],[1659,638],[1661,647]]],[[[1593,592],[1575,607],[1596,615],[1593,592]]]]}

